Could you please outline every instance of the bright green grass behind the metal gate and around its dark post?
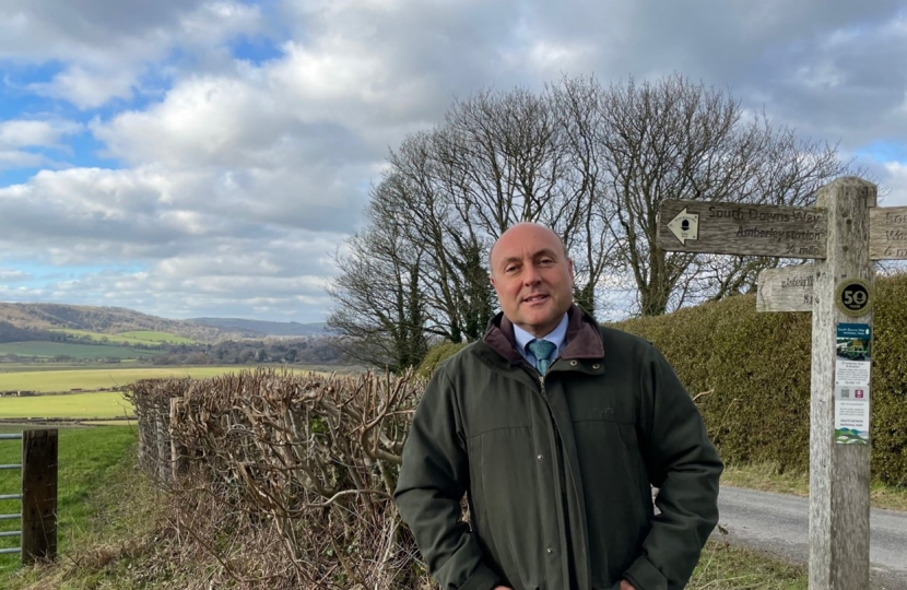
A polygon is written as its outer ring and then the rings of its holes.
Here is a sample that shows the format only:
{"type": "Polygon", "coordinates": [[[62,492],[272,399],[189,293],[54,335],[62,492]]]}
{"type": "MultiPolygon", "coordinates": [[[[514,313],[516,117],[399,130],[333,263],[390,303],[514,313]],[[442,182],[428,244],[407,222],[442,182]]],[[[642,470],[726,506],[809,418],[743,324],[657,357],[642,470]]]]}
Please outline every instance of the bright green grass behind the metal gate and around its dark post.
{"type": "MultiPolygon", "coordinates": [[[[0,427],[0,432],[21,432],[22,428],[0,427]]],[[[64,553],[87,528],[95,509],[89,502],[103,489],[111,472],[133,461],[130,449],[137,440],[137,430],[129,426],[103,428],[59,429],[59,496],[57,510],[58,541],[64,553]]],[[[0,462],[19,463],[22,460],[21,440],[0,440],[0,462]]],[[[0,494],[15,494],[21,488],[17,471],[0,471],[0,494]]],[[[16,514],[19,500],[0,502],[0,512],[16,514]]],[[[0,521],[0,531],[19,530],[19,520],[0,521]]],[[[0,538],[0,547],[19,546],[17,538],[0,538]]],[[[17,555],[0,555],[0,571],[17,566],[17,555]]],[[[8,588],[0,578],[0,587],[8,588]]]]}

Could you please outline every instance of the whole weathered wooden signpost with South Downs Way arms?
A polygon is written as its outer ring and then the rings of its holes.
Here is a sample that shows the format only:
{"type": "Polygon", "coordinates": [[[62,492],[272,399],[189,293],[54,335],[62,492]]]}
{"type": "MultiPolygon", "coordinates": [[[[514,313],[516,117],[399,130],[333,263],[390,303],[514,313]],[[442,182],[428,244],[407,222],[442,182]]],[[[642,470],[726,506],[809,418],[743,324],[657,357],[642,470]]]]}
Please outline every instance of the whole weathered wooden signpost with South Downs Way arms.
{"type": "Polygon", "coordinates": [[[761,311],[813,314],[811,589],[869,588],[872,260],[907,259],[907,208],[875,204],[875,185],[851,177],[822,188],[815,209],[664,201],[659,210],[658,245],[669,251],[816,259],[765,271],[757,298],[761,311]],[[843,427],[852,424],[864,430],[843,427]]]}

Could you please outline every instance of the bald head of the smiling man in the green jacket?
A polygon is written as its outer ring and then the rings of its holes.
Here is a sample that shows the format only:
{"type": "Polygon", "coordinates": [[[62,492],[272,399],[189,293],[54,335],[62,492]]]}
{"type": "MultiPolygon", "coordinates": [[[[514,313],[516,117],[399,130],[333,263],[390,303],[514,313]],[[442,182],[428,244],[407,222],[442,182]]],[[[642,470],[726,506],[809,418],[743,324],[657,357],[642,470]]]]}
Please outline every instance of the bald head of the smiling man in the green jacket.
{"type": "Polygon", "coordinates": [[[517,224],[492,247],[492,286],[514,324],[543,337],[573,303],[574,267],[557,234],[534,223],[517,224]]]}

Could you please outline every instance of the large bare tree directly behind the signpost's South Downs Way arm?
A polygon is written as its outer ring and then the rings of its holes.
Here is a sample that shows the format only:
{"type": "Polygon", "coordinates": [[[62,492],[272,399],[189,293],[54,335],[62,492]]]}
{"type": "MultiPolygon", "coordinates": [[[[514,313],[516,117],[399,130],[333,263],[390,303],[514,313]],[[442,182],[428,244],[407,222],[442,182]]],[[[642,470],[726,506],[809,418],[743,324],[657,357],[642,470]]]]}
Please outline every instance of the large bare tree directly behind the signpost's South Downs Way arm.
{"type": "Polygon", "coordinates": [[[799,141],[729,93],[675,74],[658,82],[602,88],[598,135],[611,184],[615,238],[638,291],[641,315],[660,315],[741,292],[770,259],[705,257],[658,247],[657,213],[665,199],[803,205],[847,164],[836,148],[799,141]]]}

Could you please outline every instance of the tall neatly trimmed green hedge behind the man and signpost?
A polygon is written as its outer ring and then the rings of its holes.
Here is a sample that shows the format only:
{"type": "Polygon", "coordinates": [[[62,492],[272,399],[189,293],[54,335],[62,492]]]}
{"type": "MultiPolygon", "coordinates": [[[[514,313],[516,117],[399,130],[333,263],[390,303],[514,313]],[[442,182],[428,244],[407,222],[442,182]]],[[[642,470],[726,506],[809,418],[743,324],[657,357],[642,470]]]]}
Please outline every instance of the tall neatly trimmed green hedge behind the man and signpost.
{"type": "MultiPolygon", "coordinates": [[[[907,274],[880,278],[875,291],[871,468],[907,485],[907,274]]],[[[697,403],[725,461],[809,468],[811,314],[758,314],[742,295],[609,326],[653,342],[692,394],[706,392],[697,403]]],[[[462,346],[432,347],[417,371],[431,375],[462,346]]]]}

